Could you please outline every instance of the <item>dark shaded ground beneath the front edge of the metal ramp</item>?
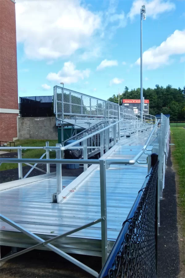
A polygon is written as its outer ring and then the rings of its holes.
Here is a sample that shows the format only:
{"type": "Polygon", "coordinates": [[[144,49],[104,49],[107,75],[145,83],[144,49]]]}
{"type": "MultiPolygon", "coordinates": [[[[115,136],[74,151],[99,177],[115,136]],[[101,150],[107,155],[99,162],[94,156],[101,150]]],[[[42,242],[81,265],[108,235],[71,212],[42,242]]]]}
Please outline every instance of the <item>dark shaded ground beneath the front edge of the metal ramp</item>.
{"type": "MultiPolygon", "coordinates": [[[[100,272],[100,257],[84,255],[72,256],[93,270],[100,272]]],[[[0,275],[1,278],[93,277],[88,272],[85,272],[80,267],[75,266],[56,253],[41,250],[33,250],[7,261],[0,268],[0,275]]]]}

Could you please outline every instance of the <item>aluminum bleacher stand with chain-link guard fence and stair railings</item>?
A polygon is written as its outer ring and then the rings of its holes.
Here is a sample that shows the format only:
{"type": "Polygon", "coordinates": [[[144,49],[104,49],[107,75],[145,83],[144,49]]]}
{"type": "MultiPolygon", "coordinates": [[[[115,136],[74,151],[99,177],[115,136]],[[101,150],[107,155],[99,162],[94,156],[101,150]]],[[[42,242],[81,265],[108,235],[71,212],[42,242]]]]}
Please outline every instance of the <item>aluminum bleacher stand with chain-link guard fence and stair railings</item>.
{"type": "MultiPolygon", "coordinates": [[[[116,125],[117,140],[131,133],[146,130],[155,124],[155,117],[144,115],[143,119],[134,114],[134,110],[121,107],[116,103],[84,95],[60,86],[54,86],[54,112],[60,124],[70,124],[84,128],[84,131],[70,137],[68,140],[79,140],[101,128],[119,122],[116,125]],[[120,121],[121,120],[121,121],[120,121]]],[[[113,127],[109,132],[110,147],[113,145],[113,127]]],[[[88,158],[99,152],[90,146],[100,147],[99,135],[88,139],[88,158]]]]}

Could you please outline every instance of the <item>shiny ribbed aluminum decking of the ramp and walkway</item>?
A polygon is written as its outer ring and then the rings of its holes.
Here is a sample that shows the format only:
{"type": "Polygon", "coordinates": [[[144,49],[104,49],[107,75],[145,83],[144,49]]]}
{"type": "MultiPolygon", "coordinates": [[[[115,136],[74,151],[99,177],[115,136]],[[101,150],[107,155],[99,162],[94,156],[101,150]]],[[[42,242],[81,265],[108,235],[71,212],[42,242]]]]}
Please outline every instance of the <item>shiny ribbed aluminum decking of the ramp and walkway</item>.
{"type": "MultiPolygon", "coordinates": [[[[150,132],[151,129],[148,129],[139,132],[138,135],[131,134],[130,138],[122,137],[107,159],[133,158],[142,149],[150,132]]],[[[139,161],[145,162],[146,157],[147,154],[143,154],[139,161]]],[[[122,223],[142,187],[147,171],[146,164],[138,163],[111,165],[106,170],[108,241],[115,241],[117,238],[122,223]]],[[[71,181],[71,179],[62,180],[62,185],[65,187],[71,181]]],[[[45,236],[63,234],[101,217],[99,166],[59,204],[51,203],[51,194],[55,191],[55,178],[3,190],[0,192],[1,213],[31,232],[45,236]]],[[[17,231],[3,221],[0,221],[0,229],[17,231]]],[[[101,223],[70,237],[100,240],[101,223]]]]}

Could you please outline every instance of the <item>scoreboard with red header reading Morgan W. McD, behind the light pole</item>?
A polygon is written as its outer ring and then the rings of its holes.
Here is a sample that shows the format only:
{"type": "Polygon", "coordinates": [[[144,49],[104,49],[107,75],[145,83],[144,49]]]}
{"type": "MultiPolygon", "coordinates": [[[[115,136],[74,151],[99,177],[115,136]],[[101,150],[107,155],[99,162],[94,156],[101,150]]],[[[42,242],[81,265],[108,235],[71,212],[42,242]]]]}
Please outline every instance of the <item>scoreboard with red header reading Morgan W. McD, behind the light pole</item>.
{"type": "MultiPolygon", "coordinates": [[[[122,106],[133,109],[135,114],[140,115],[141,99],[122,99],[122,106]]],[[[143,112],[149,114],[149,99],[145,99],[143,112]]]]}

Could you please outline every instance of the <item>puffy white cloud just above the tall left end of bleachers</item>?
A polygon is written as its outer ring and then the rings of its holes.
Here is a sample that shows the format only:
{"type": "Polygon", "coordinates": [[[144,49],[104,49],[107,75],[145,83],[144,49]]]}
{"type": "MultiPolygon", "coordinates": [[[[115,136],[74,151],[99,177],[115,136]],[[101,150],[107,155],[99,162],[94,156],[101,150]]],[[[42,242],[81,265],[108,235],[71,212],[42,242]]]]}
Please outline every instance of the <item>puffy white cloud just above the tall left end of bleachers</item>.
{"type": "Polygon", "coordinates": [[[89,69],[76,70],[75,65],[69,61],[64,63],[64,67],[58,73],[50,72],[47,75],[47,80],[71,84],[78,82],[80,79],[88,78],[89,74],[89,69]]]}

